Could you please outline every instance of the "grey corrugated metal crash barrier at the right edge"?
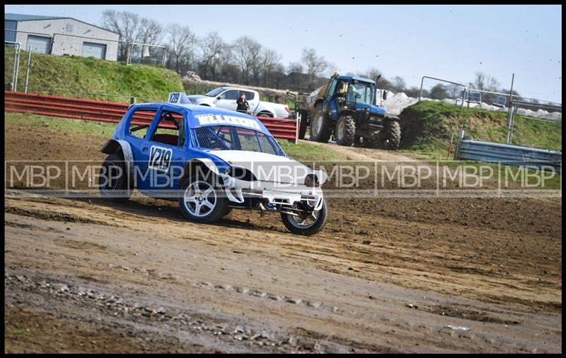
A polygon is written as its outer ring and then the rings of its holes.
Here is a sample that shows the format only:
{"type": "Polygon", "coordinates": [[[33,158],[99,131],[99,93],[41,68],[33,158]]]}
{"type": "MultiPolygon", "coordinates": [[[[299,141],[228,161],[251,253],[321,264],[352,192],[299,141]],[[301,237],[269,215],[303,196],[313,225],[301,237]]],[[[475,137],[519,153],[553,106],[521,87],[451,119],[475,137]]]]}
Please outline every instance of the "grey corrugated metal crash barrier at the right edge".
{"type": "Polygon", "coordinates": [[[562,152],[537,148],[520,147],[474,141],[461,130],[455,160],[477,160],[480,162],[498,162],[504,165],[521,167],[547,168],[562,172],[562,152]]]}

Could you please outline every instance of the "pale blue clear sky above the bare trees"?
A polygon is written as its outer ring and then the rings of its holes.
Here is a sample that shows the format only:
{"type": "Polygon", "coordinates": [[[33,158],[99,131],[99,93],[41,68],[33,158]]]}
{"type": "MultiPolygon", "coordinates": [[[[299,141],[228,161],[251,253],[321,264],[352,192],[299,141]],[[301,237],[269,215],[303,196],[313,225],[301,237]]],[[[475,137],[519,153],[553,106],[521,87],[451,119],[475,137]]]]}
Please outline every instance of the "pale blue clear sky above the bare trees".
{"type": "MultiPolygon", "coordinates": [[[[5,5],[5,13],[69,16],[100,25],[102,12],[132,11],[227,42],[249,35],[282,62],[317,54],[340,73],[375,67],[420,87],[422,76],[467,84],[477,71],[524,97],[562,102],[560,5],[5,5]]],[[[329,71],[328,74],[330,74],[329,71]]],[[[432,81],[425,80],[424,88],[432,81]]]]}

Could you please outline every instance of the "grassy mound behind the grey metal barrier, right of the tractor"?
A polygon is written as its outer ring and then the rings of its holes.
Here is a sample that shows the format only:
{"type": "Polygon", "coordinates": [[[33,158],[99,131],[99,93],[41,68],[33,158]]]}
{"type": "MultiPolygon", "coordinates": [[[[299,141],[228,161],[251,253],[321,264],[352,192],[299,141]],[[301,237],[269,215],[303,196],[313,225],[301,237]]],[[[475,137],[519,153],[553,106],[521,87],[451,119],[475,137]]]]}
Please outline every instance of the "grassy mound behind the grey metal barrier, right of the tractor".
{"type": "MultiPolygon", "coordinates": [[[[451,134],[454,133],[456,143],[459,129],[478,141],[504,143],[507,135],[507,112],[421,101],[405,108],[399,117],[400,150],[418,158],[446,159],[451,134]]],[[[536,121],[518,115],[512,144],[561,149],[562,121],[536,121]]]]}

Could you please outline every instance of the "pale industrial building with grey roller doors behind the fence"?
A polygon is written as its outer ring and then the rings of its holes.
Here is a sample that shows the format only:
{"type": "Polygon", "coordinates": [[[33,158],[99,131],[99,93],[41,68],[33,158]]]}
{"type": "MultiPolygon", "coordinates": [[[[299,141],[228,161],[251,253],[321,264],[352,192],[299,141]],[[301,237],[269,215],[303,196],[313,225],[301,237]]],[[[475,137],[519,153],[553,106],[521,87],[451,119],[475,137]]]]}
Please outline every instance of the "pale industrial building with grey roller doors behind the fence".
{"type": "Polygon", "coordinates": [[[40,54],[95,57],[117,61],[117,32],[74,18],[4,14],[4,41],[40,54]]]}

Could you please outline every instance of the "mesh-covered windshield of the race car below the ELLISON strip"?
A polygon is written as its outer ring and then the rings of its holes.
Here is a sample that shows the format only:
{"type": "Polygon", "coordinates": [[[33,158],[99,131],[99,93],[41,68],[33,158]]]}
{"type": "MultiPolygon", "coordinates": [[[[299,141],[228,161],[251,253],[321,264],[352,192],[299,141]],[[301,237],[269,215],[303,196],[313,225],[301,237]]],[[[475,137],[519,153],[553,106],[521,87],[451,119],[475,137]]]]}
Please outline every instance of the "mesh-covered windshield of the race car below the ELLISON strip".
{"type": "Polygon", "coordinates": [[[284,156],[272,136],[238,126],[202,126],[193,129],[193,145],[208,150],[248,150],[284,156]]]}

